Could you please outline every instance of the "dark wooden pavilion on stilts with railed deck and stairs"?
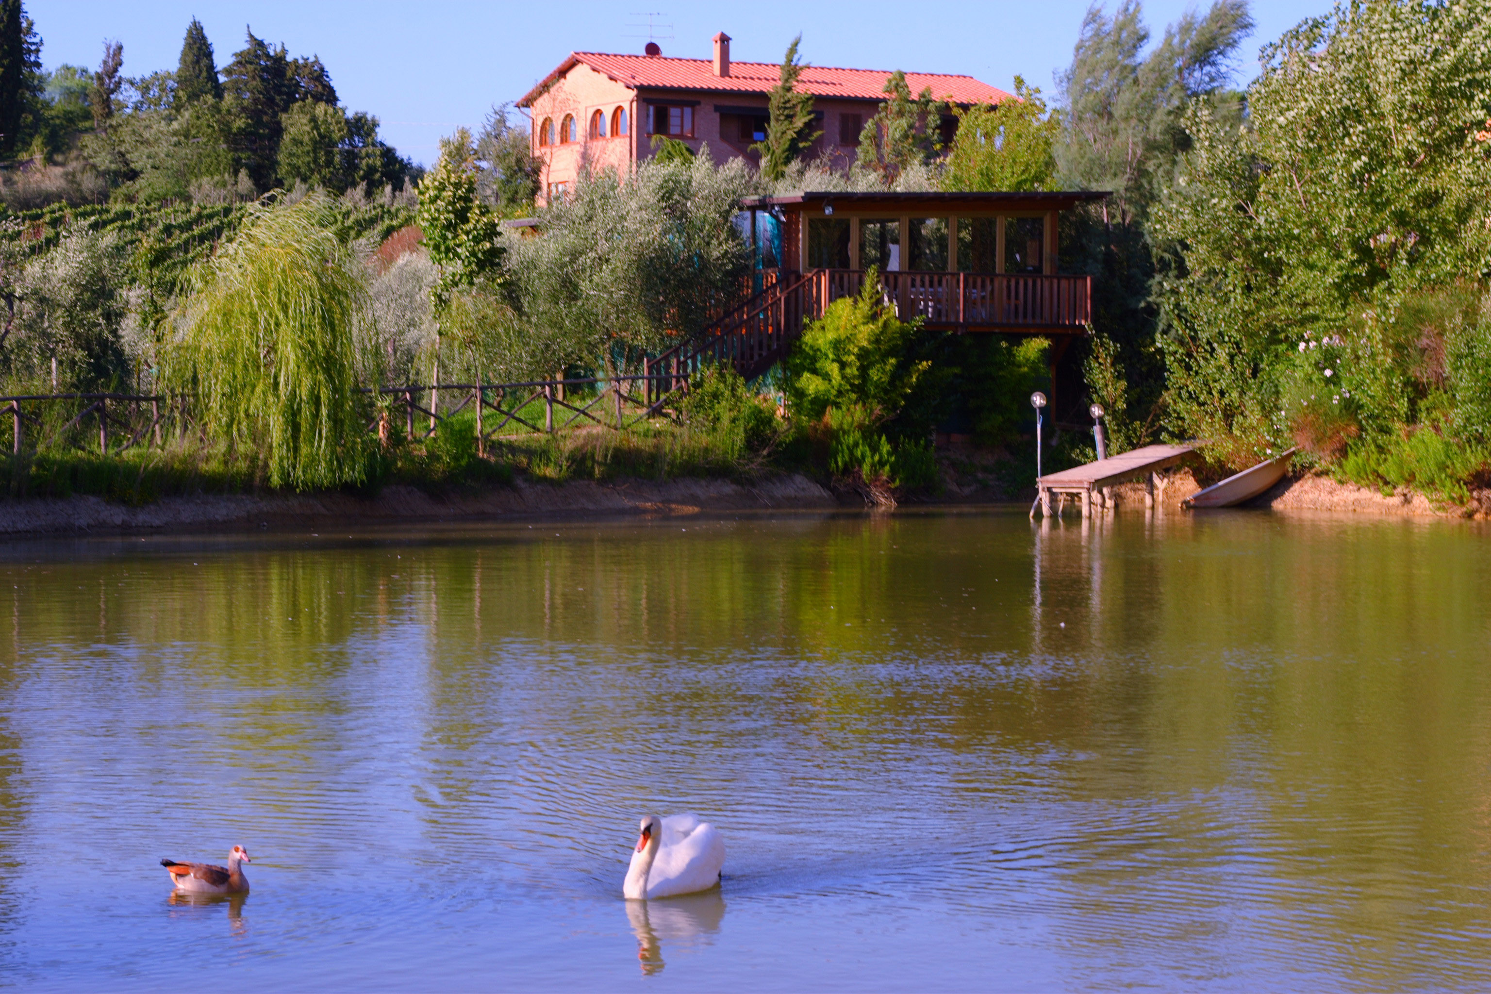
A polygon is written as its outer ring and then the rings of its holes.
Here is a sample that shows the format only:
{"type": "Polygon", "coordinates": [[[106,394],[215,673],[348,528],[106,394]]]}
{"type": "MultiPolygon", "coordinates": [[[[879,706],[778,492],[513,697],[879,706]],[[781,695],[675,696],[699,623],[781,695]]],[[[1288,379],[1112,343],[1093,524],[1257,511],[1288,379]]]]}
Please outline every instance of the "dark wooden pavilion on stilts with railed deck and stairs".
{"type": "MultiPolygon", "coordinates": [[[[902,320],[930,331],[1044,335],[1051,370],[1091,323],[1090,276],[1062,274],[1057,221],[1105,192],[829,192],[741,200],[757,292],[698,343],[658,356],[687,376],[731,361],[747,379],[780,359],[802,323],[877,273],[902,320]]],[[[671,383],[671,380],[669,380],[671,383]]],[[[1054,386],[1054,384],[1053,384],[1054,386]]],[[[1053,390],[1054,392],[1054,390],[1053,390]]]]}

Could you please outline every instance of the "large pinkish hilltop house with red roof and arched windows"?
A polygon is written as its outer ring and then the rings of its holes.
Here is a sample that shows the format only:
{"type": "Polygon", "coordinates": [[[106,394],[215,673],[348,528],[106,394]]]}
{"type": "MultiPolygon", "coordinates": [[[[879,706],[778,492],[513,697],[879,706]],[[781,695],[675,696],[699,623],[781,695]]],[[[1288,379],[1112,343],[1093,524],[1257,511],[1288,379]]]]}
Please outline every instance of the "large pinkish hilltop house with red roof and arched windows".
{"type": "MultiPolygon", "coordinates": [[[[711,156],[754,161],[750,145],[765,137],[766,101],[780,79],[778,63],[732,63],[731,37],[714,36],[714,58],[663,58],[649,42],[646,55],[574,52],[532,88],[519,107],[532,115],[532,149],[543,162],[541,200],[562,192],[581,162],[620,171],[652,155],[652,139],[665,134],[711,156]]],[[[890,72],[808,66],[798,89],[814,95],[823,137],[810,158],[829,152],[853,161],[865,121],[886,98],[890,72]]],[[[932,95],[960,107],[997,104],[1011,94],[972,76],[907,73],[911,92],[930,86],[932,95]]],[[[951,128],[956,122],[945,121],[951,128]]]]}

